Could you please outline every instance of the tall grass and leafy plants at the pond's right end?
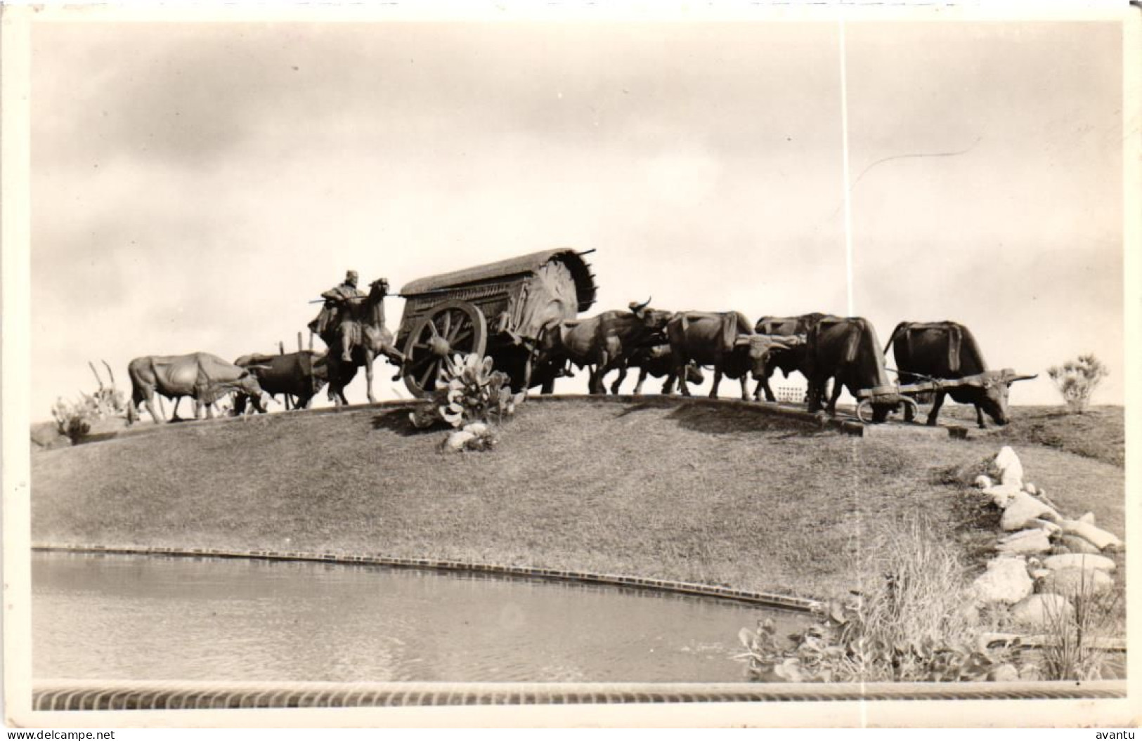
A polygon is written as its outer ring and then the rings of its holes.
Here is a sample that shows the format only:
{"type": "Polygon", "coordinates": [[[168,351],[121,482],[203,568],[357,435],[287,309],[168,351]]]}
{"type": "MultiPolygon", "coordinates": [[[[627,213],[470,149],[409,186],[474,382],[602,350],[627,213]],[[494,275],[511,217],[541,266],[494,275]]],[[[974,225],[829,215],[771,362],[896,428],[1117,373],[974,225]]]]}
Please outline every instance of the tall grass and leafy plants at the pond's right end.
{"type": "Polygon", "coordinates": [[[866,595],[828,602],[782,645],[772,621],[742,629],[751,678],[778,682],[955,682],[986,679],[1013,649],[986,651],[968,619],[966,573],[931,525],[906,526],[877,553],[883,578],[866,595]]]}

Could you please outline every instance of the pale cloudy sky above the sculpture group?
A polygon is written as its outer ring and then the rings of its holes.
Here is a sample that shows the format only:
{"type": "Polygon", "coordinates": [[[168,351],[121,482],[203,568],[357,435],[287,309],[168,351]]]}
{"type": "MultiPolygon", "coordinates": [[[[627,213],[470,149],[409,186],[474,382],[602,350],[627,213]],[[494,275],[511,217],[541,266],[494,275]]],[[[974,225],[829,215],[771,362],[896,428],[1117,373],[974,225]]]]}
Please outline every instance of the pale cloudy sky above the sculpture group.
{"type": "MultiPolygon", "coordinates": [[[[1094,352],[1123,403],[1120,26],[844,41],[853,313],[882,345],[966,324],[1040,374],[1016,404],[1094,352]]],[[[291,349],[349,268],[395,291],[573,247],[588,314],[845,314],[841,70],[835,22],[35,24],[32,418],[88,361],[129,389],[140,355],[291,349]]]]}

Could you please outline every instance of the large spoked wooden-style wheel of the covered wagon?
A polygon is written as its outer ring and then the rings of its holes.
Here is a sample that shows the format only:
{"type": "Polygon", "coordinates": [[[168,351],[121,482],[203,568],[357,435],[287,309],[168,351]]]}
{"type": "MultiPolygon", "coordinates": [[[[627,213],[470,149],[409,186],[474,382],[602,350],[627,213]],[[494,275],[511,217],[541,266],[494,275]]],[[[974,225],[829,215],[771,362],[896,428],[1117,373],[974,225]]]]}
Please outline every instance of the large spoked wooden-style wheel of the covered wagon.
{"type": "Polygon", "coordinates": [[[478,306],[456,299],[433,306],[404,343],[404,385],[416,396],[432,396],[444,359],[456,353],[483,357],[486,341],[488,324],[478,306]]]}

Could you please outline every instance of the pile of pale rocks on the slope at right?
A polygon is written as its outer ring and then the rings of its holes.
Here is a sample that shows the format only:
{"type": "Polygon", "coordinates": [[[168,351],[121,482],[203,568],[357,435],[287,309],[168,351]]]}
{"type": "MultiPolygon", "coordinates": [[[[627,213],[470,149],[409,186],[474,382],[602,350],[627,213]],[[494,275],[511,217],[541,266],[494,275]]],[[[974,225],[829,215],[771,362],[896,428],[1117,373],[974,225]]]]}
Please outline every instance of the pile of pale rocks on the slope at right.
{"type": "Polygon", "coordinates": [[[997,556],[972,585],[979,602],[1006,605],[1028,628],[1071,619],[1076,596],[1113,588],[1115,559],[1123,541],[1094,524],[1094,515],[1062,515],[1043,489],[1023,481],[1023,466],[1010,446],[992,462],[991,476],[976,476],[973,491],[1003,510],[997,556]]]}

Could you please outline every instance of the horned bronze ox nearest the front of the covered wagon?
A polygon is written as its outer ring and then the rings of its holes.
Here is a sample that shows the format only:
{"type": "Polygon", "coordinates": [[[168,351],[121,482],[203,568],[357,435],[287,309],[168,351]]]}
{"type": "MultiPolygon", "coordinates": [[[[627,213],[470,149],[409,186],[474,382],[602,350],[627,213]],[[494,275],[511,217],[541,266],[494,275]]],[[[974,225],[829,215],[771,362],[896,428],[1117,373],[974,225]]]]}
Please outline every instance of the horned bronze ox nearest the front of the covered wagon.
{"type": "Polygon", "coordinates": [[[557,320],[540,330],[538,355],[560,362],[571,362],[577,368],[589,367],[588,389],[605,394],[603,377],[624,368],[640,348],[660,345],[670,312],[630,304],[629,312],[603,312],[582,320],[557,320]]]}

